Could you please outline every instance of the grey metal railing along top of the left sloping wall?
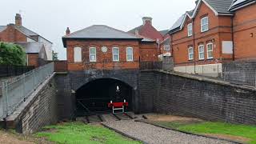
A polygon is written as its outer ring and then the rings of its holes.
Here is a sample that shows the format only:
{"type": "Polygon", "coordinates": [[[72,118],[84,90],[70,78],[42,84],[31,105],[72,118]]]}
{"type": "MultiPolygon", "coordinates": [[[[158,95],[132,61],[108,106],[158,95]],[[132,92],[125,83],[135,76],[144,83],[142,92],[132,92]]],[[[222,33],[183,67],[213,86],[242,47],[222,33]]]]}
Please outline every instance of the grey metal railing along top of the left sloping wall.
{"type": "Polygon", "coordinates": [[[54,73],[54,63],[49,63],[31,70],[16,78],[2,81],[2,97],[0,95],[0,119],[12,114],[26,98],[38,88],[42,82],[54,73]]]}

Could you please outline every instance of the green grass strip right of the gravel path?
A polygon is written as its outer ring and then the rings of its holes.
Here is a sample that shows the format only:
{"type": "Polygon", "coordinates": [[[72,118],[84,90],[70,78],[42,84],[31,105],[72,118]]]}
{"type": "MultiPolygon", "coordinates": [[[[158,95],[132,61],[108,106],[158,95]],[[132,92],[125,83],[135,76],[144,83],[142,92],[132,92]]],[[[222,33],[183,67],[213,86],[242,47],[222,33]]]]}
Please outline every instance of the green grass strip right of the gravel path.
{"type": "Polygon", "coordinates": [[[256,126],[236,125],[226,122],[154,122],[159,126],[166,126],[194,134],[228,134],[243,138],[250,138],[250,144],[256,144],[256,126]]]}

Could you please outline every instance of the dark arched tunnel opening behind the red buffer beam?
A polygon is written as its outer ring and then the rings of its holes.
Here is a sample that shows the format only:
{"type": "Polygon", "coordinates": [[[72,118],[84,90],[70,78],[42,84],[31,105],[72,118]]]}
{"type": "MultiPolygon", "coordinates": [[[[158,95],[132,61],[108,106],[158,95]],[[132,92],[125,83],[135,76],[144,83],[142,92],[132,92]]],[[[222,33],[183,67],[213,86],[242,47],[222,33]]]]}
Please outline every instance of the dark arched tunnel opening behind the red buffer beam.
{"type": "Polygon", "coordinates": [[[133,110],[133,88],[125,82],[113,79],[97,79],[80,87],[76,93],[77,116],[111,112],[110,101],[129,102],[127,110],[133,110]]]}

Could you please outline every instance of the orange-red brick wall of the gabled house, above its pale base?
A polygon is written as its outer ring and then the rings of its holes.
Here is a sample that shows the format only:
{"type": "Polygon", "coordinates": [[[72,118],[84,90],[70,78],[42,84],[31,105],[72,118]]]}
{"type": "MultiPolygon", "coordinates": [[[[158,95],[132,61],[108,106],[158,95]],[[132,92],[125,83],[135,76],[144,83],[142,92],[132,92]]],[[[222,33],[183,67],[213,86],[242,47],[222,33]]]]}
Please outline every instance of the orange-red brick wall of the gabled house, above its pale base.
{"type": "Polygon", "coordinates": [[[187,24],[192,22],[190,18],[186,18],[183,29],[172,35],[173,37],[173,52],[175,66],[189,66],[194,65],[194,60],[188,59],[188,47],[194,47],[194,55],[197,64],[211,64],[221,62],[222,58],[230,58],[231,54],[225,57],[222,55],[222,41],[231,41],[231,17],[230,16],[216,16],[212,10],[205,3],[199,6],[198,14],[194,18],[194,41],[193,36],[187,36],[187,24]],[[201,18],[208,16],[209,30],[201,32],[201,18]],[[208,42],[214,43],[214,59],[207,60],[206,44],[208,42]],[[203,44],[205,46],[205,59],[198,60],[198,46],[203,44]]]}

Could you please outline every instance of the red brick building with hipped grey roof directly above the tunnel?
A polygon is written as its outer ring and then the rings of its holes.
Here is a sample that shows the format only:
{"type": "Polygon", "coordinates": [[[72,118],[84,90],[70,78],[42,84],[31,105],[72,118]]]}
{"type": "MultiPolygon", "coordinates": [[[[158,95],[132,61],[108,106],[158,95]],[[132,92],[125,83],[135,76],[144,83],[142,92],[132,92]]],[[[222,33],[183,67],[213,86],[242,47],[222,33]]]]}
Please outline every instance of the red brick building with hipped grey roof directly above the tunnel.
{"type": "Polygon", "coordinates": [[[157,61],[157,45],[149,38],[94,25],[62,37],[70,71],[139,69],[140,62],[157,61]]]}

